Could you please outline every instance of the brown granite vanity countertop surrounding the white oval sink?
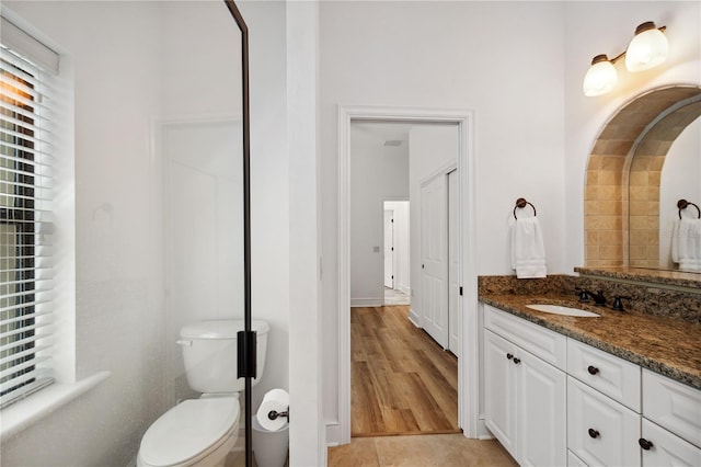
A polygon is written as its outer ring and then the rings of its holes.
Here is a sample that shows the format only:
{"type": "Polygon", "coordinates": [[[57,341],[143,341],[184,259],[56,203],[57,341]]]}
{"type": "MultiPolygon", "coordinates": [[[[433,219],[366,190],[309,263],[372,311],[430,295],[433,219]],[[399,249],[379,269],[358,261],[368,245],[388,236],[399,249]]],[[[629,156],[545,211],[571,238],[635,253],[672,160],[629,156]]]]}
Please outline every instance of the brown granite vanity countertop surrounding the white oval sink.
{"type": "Polygon", "coordinates": [[[561,334],[585,342],[653,372],[701,389],[701,326],[680,320],[614,311],[579,304],[571,296],[483,294],[480,300],[561,334]],[[563,305],[601,315],[575,318],[526,308],[563,305]]]}

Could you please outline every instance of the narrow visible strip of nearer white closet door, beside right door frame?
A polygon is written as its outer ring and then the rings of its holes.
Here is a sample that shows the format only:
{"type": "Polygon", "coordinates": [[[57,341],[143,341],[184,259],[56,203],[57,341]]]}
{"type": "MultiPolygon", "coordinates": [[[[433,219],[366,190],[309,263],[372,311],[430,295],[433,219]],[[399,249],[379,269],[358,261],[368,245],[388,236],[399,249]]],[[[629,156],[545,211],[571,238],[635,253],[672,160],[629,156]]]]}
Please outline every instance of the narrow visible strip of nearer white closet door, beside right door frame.
{"type": "Polygon", "coordinates": [[[448,173],[448,350],[460,349],[460,252],[458,251],[458,171],[448,173]]]}

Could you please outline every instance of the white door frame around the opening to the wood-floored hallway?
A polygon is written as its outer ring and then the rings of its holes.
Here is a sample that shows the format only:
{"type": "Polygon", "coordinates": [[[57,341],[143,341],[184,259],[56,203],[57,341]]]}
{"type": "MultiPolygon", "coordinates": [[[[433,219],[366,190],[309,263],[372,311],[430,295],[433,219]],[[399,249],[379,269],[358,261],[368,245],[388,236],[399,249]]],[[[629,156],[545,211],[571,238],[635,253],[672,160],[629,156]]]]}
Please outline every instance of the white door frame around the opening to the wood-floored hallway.
{"type": "MultiPolygon", "coordinates": [[[[460,310],[458,425],[467,437],[480,430],[480,345],[475,248],[474,111],[455,109],[338,105],[338,443],[350,442],[350,123],[392,121],[458,125],[458,231],[460,235],[460,310]]],[[[483,422],[482,422],[483,423],[483,422]]]]}

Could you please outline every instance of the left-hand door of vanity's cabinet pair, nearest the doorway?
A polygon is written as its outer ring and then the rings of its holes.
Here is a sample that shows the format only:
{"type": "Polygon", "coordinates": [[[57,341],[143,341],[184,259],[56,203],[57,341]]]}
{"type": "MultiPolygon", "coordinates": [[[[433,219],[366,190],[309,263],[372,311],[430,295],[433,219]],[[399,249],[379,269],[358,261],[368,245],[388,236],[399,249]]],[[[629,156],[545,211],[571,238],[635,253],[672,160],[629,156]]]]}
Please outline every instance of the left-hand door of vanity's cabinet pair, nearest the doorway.
{"type": "Polygon", "coordinates": [[[486,428],[516,457],[516,346],[484,331],[484,415],[486,428]],[[510,356],[510,357],[509,357],[510,356]]]}

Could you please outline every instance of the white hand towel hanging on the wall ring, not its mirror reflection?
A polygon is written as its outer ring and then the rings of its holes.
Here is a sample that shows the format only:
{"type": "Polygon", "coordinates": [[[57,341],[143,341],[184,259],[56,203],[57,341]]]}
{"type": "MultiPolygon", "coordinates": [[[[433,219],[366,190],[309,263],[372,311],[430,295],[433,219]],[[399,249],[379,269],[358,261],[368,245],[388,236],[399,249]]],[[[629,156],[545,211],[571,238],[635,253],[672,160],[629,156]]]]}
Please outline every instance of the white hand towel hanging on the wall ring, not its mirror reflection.
{"type": "Polygon", "coordinates": [[[545,248],[537,217],[513,223],[512,267],[518,278],[545,277],[545,248]]]}

